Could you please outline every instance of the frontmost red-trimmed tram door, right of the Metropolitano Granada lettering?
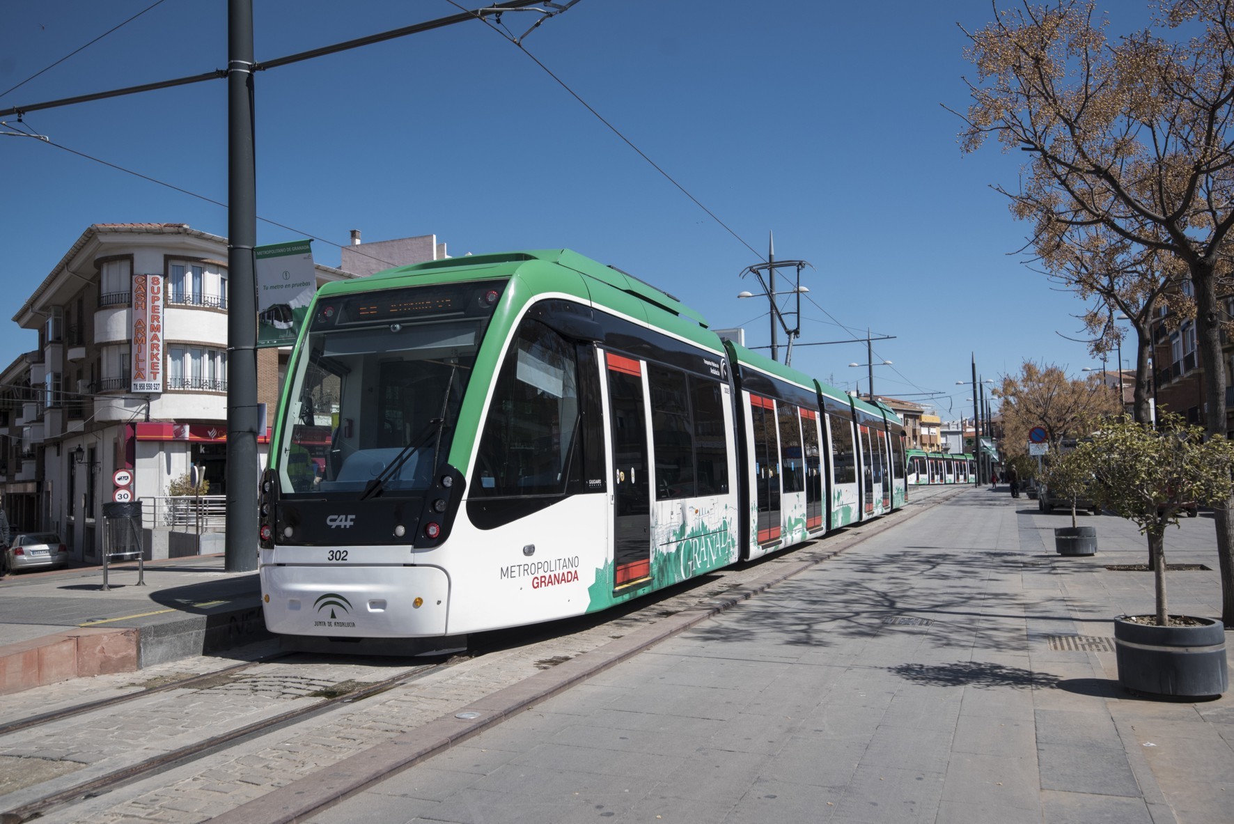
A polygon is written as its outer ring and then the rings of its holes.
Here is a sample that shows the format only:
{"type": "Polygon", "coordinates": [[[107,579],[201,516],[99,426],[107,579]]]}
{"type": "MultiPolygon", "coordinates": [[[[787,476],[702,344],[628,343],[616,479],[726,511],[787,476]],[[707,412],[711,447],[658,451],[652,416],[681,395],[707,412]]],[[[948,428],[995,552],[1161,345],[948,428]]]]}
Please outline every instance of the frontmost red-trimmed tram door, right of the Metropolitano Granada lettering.
{"type": "Polygon", "coordinates": [[[647,405],[638,360],[607,353],[613,454],[613,590],[652,576],[647,405]]]}

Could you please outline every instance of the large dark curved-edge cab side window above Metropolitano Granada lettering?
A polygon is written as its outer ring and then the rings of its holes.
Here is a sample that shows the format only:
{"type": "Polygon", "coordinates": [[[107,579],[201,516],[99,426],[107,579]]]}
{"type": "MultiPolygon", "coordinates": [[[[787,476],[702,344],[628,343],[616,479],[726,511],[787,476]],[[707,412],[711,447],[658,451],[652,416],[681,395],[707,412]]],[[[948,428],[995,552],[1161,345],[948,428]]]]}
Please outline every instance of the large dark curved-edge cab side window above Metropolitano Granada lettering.
{"type": "Polygon", "coordinates": [[[576,377],[574,345],[543,323],[524,319],[494,387],[471,495],[568,491],[584,453],[576,377]]]}

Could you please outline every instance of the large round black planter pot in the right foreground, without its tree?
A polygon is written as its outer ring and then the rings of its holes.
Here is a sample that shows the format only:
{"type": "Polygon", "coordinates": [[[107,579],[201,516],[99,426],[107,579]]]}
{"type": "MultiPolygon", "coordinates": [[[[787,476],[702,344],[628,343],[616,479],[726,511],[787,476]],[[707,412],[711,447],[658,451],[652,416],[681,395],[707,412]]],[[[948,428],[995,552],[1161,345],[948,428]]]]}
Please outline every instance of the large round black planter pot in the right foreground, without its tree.
{"type": "Polygon", "coordinates": [[[1203,698],[1225,692],[1225,627],[1198,620],[1204,624],[1157,627],[1114,618],[1119,683],[1157,696],[1203,698]]]}

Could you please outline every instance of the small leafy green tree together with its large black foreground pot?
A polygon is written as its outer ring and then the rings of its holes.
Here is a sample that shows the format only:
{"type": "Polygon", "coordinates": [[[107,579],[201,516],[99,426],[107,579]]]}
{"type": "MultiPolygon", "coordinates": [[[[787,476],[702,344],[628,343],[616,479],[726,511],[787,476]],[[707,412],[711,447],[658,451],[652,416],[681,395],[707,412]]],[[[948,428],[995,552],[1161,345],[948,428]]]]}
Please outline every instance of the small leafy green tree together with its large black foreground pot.
{"type": "Polygon", "coordinates": [[[1112,419],[1072,453],[1093,476],[1092,491],[1148,538],[1156,611],[1114,618],[1118,680],[1132,692],[1203,697],[1225,692],[1225,632],[1220,620],[1171,616],[1165,588],[1165,529],[1190,502],[1217,505],[1234,491],[1234,442],[1166,416],[1161,431],[1112,419]]]}

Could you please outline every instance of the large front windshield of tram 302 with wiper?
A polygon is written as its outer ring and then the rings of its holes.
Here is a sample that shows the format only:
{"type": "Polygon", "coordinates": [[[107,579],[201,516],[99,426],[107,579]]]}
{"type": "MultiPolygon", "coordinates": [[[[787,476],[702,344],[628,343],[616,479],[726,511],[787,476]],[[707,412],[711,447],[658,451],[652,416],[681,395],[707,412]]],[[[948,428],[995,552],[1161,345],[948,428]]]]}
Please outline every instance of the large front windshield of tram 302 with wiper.
{"type": "Polygon", "coordinates": [[[505,282],[318,300],[288,387],[283,493],[406,496],[445,463],[505,282]]]}

